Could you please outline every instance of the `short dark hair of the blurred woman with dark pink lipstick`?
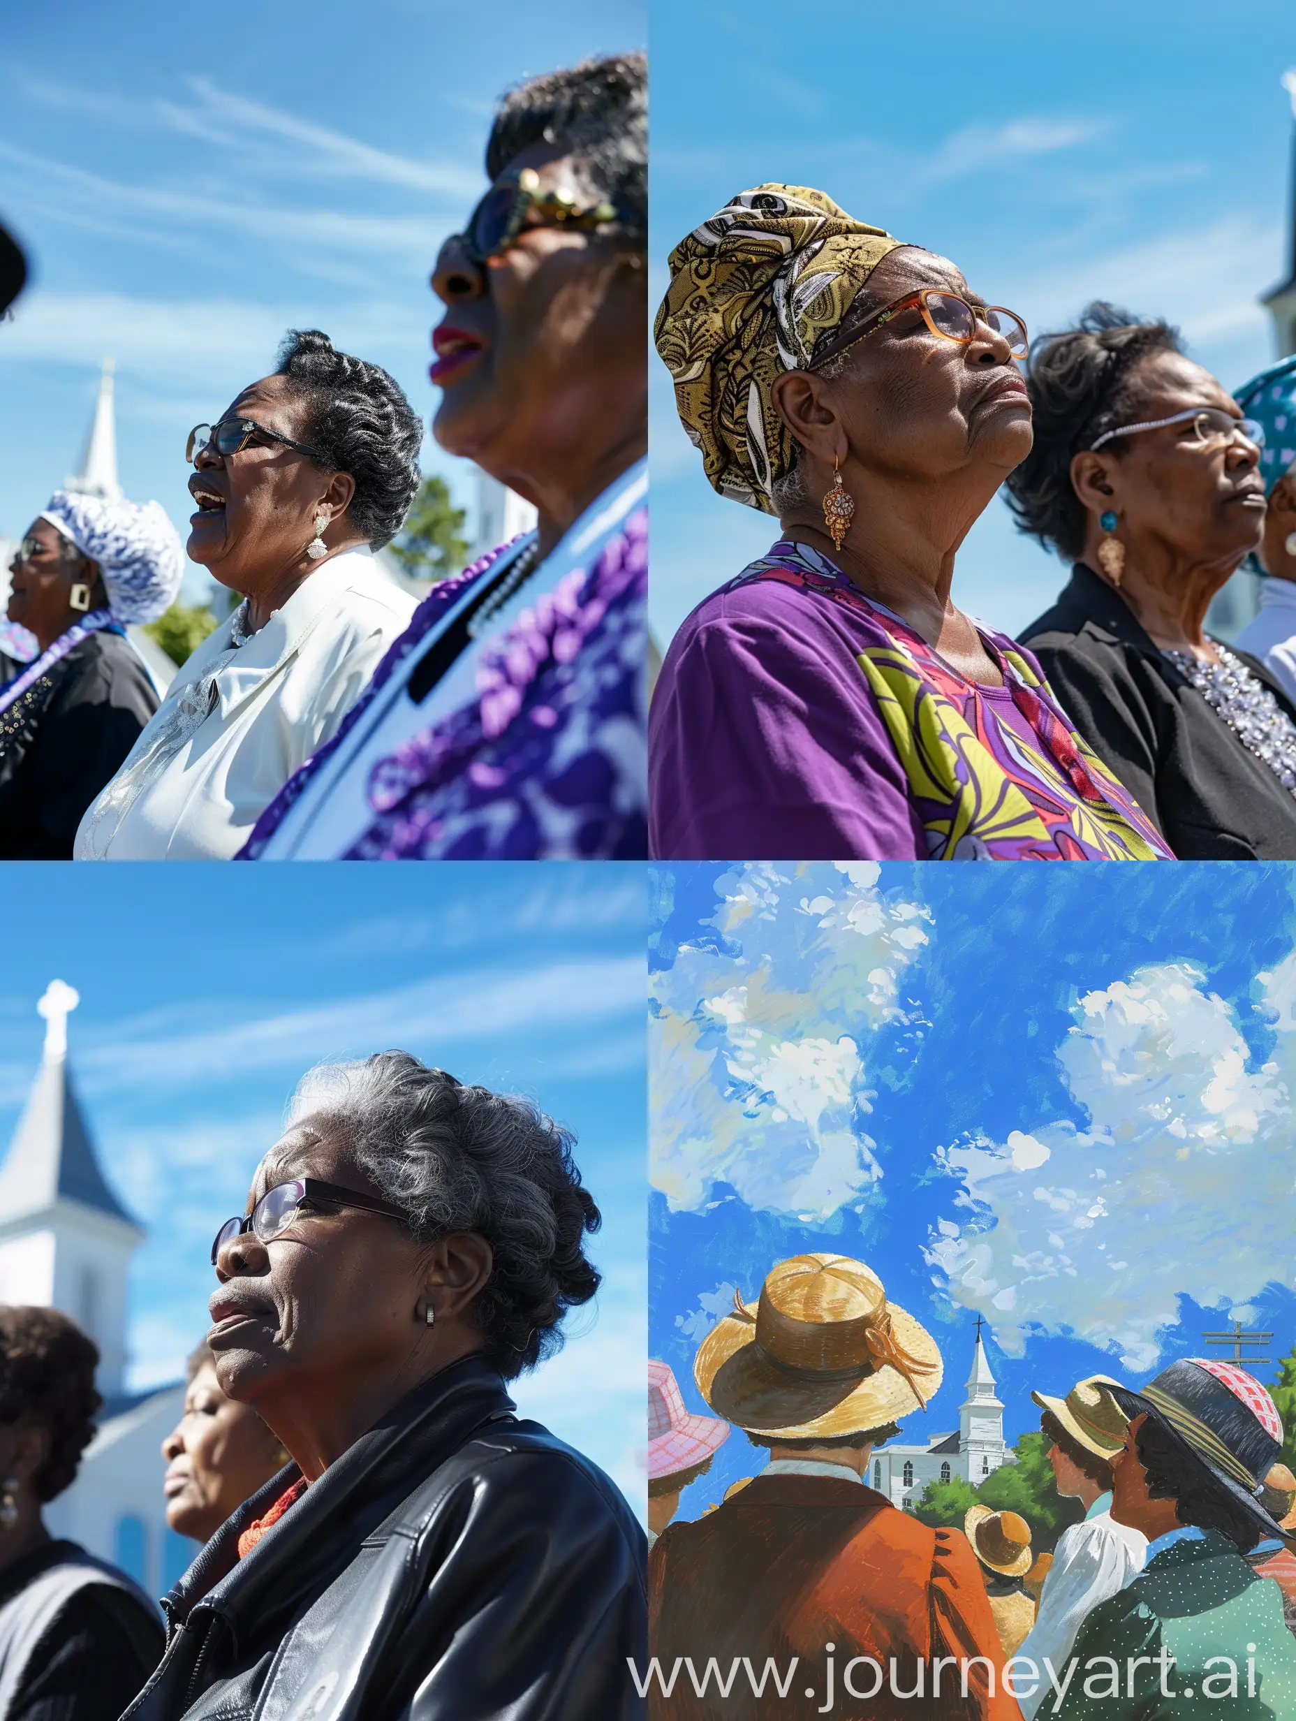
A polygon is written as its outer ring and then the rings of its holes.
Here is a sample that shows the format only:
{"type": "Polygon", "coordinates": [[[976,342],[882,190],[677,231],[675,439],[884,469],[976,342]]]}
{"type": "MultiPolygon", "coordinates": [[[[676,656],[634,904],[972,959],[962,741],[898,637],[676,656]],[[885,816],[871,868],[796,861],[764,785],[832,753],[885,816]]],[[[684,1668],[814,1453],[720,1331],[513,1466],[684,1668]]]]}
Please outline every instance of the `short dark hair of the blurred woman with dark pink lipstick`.
{"type": "Polygon", "coordinates": [[[647,55],[613,53],[530,77],[504,96],[485,146],[499,179],[534,143],[577,157],[594,191],[647,243],[647,55]]]}

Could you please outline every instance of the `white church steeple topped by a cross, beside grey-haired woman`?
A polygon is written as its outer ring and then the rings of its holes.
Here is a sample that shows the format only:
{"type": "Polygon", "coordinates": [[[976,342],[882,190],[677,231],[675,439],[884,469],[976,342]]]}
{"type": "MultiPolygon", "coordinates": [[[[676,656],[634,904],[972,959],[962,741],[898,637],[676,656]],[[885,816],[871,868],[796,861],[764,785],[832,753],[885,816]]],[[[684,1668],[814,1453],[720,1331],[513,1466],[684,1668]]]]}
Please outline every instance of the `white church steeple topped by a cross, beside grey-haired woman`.
{"type": "Polygon", "coordinates": [[[98,1344],[98,1389],[122,1391],[126,1270],[145,1239],[105,1182],[67,1069],[72,986],[55,979],[36,1009],[45,1055],[0,1167],[0,1303],[71,1315],[98,1344]]]}

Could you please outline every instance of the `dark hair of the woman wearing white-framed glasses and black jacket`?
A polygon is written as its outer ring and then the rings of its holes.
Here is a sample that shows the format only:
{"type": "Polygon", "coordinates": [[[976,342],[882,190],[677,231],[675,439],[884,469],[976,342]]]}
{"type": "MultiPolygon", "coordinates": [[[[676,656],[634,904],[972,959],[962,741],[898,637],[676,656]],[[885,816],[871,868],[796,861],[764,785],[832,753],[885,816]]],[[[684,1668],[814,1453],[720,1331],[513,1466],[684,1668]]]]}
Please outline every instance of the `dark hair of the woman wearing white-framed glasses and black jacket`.
{"type": "Polygon", "coordinates": [[[1081,312],[1074,329],[1031,342],[1026,387],[1034,446],[1005,480],[1019,532],[1065,561],[1079,559],[1088,515],[1071,482],[1072,456],[1127,420],[1145,358],[1182,351],[1179,330],[1160,317],[1131,317],[1103,299],[1081,312]]]}

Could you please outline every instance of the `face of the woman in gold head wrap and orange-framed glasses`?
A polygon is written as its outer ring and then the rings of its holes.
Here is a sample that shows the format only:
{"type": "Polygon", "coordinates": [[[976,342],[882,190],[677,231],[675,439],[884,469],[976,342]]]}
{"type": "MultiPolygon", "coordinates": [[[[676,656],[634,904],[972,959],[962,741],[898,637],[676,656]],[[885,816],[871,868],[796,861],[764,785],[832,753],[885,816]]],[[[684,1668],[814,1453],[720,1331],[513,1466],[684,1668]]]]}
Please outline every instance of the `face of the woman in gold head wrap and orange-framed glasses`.
{"type": "MultiPolygon", "coordinates": [[[[984,306],[948,258],[900,246],[869,275],[869,308],[919,287],[984,306]]],[[[983,461],[1007,477],[1031,451],[1026,380],[1003,337],[984,324],[960,346],[933,334],[917,306],[904,310],[849,349],[826,391],[850,447],[873,470],[938,478],[983,461]]]]}

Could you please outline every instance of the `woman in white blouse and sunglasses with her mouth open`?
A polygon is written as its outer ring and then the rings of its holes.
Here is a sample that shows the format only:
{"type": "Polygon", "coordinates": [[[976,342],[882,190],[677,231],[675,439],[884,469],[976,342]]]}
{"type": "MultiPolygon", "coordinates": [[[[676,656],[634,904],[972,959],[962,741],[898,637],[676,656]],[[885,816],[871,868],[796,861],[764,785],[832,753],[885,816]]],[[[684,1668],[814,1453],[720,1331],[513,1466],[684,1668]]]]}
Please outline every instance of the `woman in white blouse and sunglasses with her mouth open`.
{"type": "Polygon", "coordinates": [[[189,558],[243,602],[189,657],[86,812],[77,860],[229,860],[337,730],[415,602],[373,564],[418,489],[422,427],[318,330],[189,432],[189,558]]]}

